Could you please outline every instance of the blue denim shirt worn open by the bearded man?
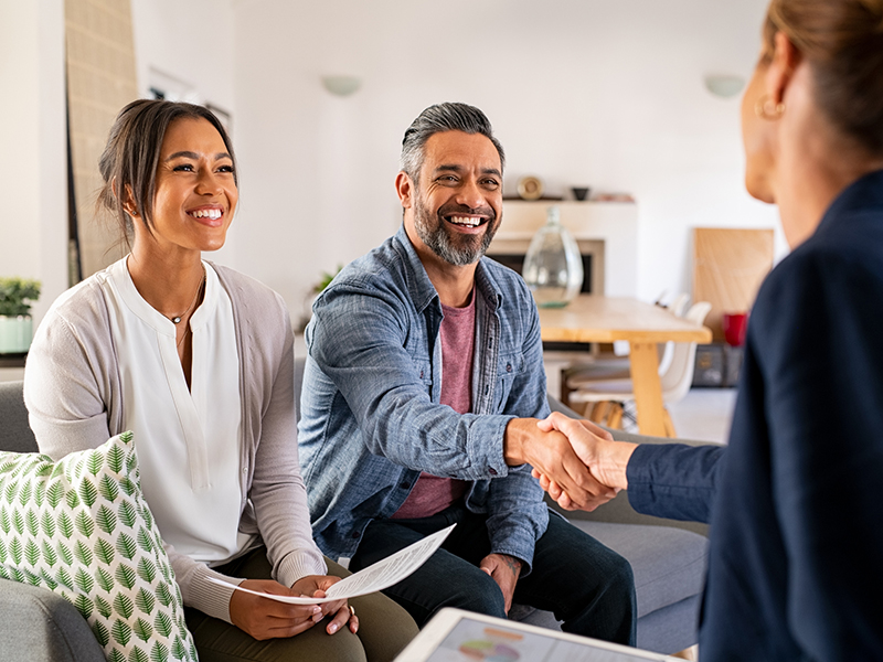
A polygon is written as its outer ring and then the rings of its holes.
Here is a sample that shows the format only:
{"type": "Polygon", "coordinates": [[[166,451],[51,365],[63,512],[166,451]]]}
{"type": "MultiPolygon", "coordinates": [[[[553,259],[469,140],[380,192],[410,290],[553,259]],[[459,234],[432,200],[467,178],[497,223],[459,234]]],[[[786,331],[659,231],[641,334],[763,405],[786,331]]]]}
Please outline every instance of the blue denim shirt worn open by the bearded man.
{"type": "Polygon", "coordinates": [[[481,258],[475,292],[470,414],[439,404],[442,305],[404,228],[316,301],[298,442],[313,536],[330,557],[351,557],[426,471],[472,481],[466,508],[489,515],[491,552],[530,572],[549,510],[530,467],[507,467],[502,441],[510,419],[549,413],[540,321],[524,281],[493,260],[481,258]]]}

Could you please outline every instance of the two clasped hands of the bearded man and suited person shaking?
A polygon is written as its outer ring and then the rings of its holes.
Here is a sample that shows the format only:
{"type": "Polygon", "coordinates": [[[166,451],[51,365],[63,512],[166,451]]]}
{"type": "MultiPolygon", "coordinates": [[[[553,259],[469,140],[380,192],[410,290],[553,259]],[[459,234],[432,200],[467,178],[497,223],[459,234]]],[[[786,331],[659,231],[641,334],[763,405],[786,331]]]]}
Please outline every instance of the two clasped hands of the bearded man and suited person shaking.
{"type": "Polygon", "coordinates": [[[614,441],[594,423],[553,413],[543,420],[510,421],[504,453],[509,465],[531,465],[561,508],[593,511],[628,487],[626,468],[636,447],[614,441]]]}

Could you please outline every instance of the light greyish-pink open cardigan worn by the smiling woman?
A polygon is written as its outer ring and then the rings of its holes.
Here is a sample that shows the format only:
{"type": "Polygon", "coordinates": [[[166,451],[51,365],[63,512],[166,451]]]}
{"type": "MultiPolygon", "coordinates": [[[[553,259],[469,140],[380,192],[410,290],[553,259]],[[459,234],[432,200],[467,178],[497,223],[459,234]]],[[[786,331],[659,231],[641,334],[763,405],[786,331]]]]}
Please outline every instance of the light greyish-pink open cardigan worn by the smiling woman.
{"type": "MultiPolygon", "coordinates": [[[[281,297],[212,265],[233,303],[242,402],[240,531],[259,533],[277,581],[291,586],[327,573],[312,541],[297,453],[294,335],[281,297]]],[[[63,293],[36,330],[24,372],[24,401],[41,452],[61,458],[125,431],[125,403],[100,271],[63,293]]],[[[136,448],[138,438],[135,439],[136,448]]],[[[161,532],[160,532],[161,533],[161,532]]],[[[166,551],[184,605],[230,622],[230,580],[205,564],[166,551]]],[[[241,579],[233,583],[238,584],[241,579]]]]}

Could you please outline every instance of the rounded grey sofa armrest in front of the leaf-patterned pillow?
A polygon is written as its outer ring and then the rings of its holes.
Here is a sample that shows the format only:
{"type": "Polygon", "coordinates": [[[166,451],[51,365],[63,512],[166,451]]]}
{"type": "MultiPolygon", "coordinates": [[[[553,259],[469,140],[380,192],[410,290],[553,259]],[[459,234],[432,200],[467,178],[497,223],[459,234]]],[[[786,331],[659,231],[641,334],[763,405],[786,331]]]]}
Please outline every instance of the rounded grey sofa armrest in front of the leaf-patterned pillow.
{"type": "Polygon", "coordinates": [[[0,662],[105,662],[102,647],[76,607],[51,590],[0,579],[0,662]]]}

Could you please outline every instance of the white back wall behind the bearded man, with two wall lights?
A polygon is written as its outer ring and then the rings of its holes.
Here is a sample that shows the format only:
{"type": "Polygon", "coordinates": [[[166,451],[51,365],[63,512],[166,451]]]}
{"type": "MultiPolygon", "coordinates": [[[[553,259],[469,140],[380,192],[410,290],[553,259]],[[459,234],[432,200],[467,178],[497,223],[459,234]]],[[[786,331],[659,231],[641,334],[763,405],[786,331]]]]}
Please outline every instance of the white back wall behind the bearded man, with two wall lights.
{"type": "MultiPolygon", "coordinates": [[[[507,149],[507,189],[587,184],[639,203],[639,293],[689,287],[690,228],[775,226],[742,186],[738,98],[766,0],[240,0],[236,142],[242,209],[231,258],[296,311],[321,270],[397,226],[404,129],[426,106],[481,107],[507,149]],[[326,74],[362,89],[328,94],[326,74]]],[[[504,221],[503,221],[504,222],[504,221]]]]}

